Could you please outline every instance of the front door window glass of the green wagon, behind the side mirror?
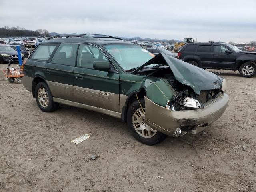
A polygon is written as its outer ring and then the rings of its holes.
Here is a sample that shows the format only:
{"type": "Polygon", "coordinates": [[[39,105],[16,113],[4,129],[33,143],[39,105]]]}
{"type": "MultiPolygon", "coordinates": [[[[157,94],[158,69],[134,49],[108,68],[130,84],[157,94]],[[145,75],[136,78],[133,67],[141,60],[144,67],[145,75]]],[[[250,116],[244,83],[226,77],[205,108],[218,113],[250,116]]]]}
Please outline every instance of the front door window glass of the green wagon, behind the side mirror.
{"type": "Polygon", "coordinates": [[[80,44],[76,65],[79,67],[93,69],[94,61],[107,61],[103,52],[93,45],[80,44]]]}

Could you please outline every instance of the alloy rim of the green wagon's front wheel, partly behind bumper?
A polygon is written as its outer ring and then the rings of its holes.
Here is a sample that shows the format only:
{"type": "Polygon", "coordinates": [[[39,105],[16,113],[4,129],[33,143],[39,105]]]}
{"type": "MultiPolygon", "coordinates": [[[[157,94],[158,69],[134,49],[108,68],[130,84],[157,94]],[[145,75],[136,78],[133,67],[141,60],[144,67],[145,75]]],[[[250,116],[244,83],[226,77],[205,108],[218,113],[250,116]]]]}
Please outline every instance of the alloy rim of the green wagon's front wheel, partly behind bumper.
{"type": "Polygon", "coordinates": [[[144,119],[145,119],[145,108],[137,109],[132,115],[133,127],[140,136],[144,138],[151,138],[156,134],[157,131],[152,129],[147,124],[145,124],[144,119]]]}

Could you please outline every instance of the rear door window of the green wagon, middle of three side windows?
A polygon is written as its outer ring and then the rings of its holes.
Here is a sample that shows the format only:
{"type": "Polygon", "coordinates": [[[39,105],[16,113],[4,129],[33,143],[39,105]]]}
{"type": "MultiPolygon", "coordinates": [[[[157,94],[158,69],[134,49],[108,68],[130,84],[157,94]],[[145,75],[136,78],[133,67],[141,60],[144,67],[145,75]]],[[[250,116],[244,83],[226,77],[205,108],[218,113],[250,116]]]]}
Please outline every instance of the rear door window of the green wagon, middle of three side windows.
{"type": "Polygon", "coordinates": [[[75,66],[77,47],[78,44],[61,44],[52,58],[52,63],[75,66]]]}

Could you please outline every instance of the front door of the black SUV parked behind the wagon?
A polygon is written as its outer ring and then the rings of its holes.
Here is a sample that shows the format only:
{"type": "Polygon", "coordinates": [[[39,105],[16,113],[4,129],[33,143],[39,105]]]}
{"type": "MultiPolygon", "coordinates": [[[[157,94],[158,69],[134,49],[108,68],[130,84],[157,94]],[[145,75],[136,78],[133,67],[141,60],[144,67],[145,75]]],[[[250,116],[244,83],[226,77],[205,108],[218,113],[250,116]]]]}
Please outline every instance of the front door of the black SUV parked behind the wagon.
{"type": "Polygon", "coordinates": [[[212,67],[220,69],[233,69],[236,62],[236,52],[226,53],[230,50],[227,46],[215,44],[213,45],[212,67]]]}

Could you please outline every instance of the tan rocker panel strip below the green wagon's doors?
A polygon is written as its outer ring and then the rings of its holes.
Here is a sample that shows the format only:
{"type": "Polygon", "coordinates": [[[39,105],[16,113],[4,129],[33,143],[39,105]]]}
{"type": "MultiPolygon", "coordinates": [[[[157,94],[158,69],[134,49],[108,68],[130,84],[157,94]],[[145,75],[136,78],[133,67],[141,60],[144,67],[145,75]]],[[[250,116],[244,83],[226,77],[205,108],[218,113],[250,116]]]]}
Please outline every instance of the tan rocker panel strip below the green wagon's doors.
{"type": "Polygon", "coordinates": [[[106,114],[106,115],[109,115],[109,116],[112,116],[115,118],[121,118],[121,113],[119,113],[119,112],[114,112],[111,110],[102,109],[99,107],[94,107],[94,106],[81,104],[81,103],[77,103],[77,102],[73,102],[73,101],[68,101],[68,100],[60,99],[60,98],[56,98],[56,97],[53,97],[53,101],[57,102],[57,103],[65,104],[65,105],[70,105],[70,106],[74,106],[74,107],[79,107],[79,108],[84,108],[84,109],[100,112],[100,113],[103,113],[103,114],[106,114]]]}

